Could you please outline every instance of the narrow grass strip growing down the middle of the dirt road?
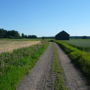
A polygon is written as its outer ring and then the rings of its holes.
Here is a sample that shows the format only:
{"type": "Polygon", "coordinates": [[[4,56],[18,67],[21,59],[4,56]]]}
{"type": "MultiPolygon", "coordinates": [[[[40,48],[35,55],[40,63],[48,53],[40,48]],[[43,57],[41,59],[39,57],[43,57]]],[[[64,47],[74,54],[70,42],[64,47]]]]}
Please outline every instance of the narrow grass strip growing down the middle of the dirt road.
{"type": "Polygon", "coordinates": [[[63,69],[60,66],[60,62],[58,60],[57,48],[56,47],[53,48],[54,48],[54,60],[52,65],[52,71],[55,74],[55,81],[53,85],[54,90],[68,90],[65,87],[63,69]]]}

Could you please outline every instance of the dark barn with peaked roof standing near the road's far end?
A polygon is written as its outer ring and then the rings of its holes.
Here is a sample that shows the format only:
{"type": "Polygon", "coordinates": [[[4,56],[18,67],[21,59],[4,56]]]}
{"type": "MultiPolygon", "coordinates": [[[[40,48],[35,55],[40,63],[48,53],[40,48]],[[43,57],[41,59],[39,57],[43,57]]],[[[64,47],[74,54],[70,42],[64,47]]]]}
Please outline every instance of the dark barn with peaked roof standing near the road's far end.
{"type": "Polygon", "coordinates": [[[55,39],[56,40],[69,40],[70,35],[67,32],[62,31],[55,36],[55,39]]]}

